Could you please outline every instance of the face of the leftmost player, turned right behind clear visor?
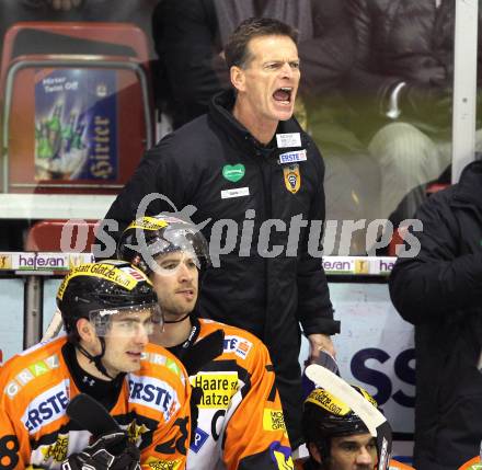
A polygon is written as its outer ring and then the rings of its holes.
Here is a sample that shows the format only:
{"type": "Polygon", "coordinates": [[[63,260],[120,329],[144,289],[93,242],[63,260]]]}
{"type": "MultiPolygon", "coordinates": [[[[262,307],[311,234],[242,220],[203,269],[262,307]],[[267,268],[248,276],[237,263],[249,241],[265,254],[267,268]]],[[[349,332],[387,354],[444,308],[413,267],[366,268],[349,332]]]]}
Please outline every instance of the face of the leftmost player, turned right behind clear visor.
{"type": "Polygon", "coordinates": [[[140,356],[153,326],[152,311],[148,309],[113,316],[105,335],[105,354],[102,358],[111,377],[140,368],[140,356]]]}

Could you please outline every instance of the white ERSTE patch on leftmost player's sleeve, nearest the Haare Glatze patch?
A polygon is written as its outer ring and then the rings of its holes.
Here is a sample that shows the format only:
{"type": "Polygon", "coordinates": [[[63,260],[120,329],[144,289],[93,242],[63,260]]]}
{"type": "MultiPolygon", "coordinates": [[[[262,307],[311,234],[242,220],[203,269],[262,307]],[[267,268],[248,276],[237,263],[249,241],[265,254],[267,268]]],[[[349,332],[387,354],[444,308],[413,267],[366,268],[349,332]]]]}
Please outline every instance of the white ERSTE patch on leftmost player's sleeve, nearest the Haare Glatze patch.
{"type": "Polygon", "coordinates": [[[164,421],[169,421],[180,409],[177,393],[163,380],[154,377],[128,375],[129,402],[161,411],[164,421]]]}

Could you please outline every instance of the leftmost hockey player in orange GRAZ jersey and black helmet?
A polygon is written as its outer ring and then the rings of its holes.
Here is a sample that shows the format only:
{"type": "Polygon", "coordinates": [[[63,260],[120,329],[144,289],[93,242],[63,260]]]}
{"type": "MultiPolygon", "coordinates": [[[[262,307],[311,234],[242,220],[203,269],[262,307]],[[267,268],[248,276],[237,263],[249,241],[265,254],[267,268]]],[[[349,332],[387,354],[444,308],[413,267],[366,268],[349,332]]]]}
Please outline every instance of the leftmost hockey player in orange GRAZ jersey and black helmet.
{"type": "Polygon", "coordinates": [[[149,279],[125,262],[83,264],[61,283],[57,305],[67,337],[0,370],[0,469],[185,468],[190,386],[177,359],[148,344],[162,324],[149,279]],[[92,435],[70,420],[80,392],[124,431],[92,435]]]}

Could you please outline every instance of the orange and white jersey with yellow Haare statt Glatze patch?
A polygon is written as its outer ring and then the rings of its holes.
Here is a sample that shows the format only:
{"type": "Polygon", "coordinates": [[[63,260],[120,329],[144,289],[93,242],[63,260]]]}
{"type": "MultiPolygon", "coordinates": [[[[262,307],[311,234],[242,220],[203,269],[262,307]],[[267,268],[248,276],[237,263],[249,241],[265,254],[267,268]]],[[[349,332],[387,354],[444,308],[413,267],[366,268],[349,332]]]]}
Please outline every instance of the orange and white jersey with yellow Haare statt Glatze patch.
{"type": "Polygon", "coordinates": [[[292,469],[275,374],[264,344],[244,330],[193,319],[188,342],[171,348],[187,360],[190,347],[222,330],[222,354],[190,377],[203,390],[188,470],[292,469]],[[184,347],[183,347],[184,346],[184,347]]]}

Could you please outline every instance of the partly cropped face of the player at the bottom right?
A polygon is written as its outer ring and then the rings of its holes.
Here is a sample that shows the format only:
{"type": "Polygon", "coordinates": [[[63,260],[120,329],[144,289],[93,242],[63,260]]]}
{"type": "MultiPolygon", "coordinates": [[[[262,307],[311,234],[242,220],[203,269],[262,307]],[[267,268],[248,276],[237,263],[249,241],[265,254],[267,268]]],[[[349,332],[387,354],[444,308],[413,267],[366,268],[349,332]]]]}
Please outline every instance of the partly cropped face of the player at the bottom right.
{"type": "Polygon", "coordinates": [[[330,470],[372,470],[377,443],[370,434],[331,438],[330,470]]]}

